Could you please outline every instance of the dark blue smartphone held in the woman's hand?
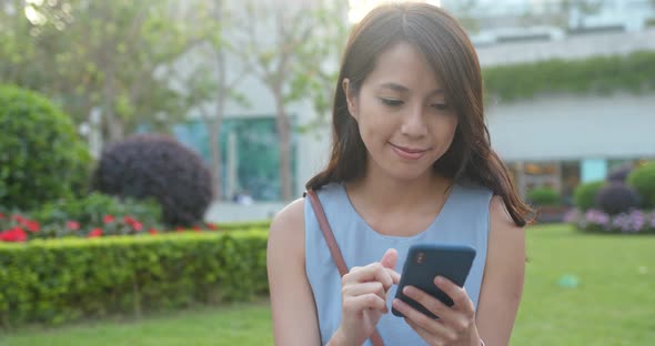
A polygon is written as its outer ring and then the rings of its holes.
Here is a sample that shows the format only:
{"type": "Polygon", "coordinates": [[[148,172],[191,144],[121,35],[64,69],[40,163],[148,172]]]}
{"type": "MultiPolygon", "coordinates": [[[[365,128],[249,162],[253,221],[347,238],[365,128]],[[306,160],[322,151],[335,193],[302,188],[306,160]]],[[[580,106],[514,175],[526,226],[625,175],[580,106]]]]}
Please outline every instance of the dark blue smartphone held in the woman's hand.
{"type": "MultiPolygon", "coordinates": [[[[434,284],[434,278],[443,276],[463,287],[474,258],[475,248],[468,245],[413,245],[407,252],[395,297],[431,318],[439,318],[420,303],[406,297],[403,294],[403,288],[414,286],[445,305],[453,306],[453,301],[434,284]]],[[[395,316],[404,317],[395,308],[392,308],[392,313],[395,316]]]]}

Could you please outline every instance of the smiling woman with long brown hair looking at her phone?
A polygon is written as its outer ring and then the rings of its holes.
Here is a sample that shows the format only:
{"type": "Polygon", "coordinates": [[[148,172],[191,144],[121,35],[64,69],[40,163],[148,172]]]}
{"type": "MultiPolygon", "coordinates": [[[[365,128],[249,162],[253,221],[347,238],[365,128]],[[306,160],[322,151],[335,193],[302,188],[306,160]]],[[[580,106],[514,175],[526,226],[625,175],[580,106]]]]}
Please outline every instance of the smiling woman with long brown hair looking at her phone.
{"type": "Polygon", "coordinates": [[[477,57],[462,27],[424,3],[379,7],[353,30],[333,106],[333,146],[316,191],[350,272],[342,277],[309,201],[271,225],[278,345],[507,345],[521,299],[528,207],[492,151],[477,57]],[[412,244],[476,247],[464,287],[435,278],[440,316],[394,299],[412,244]],[[395,307],[404,318],[390,314],[395,307]]]}

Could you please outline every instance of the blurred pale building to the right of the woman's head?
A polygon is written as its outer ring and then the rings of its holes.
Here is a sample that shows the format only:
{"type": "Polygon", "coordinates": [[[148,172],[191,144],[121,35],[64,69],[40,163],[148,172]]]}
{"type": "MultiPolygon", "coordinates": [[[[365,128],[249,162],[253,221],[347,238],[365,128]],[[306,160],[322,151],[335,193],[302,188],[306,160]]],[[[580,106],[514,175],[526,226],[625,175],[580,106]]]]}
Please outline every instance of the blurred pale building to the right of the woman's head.
{"type": "MultiPolygon", "coordinates": [[[[647,0],[461,3],[443,1],[475,24],[472,40],[483,70],[655,51],[655,4],[647,0]]],[[[580,182],[655,159],[654,110],[655,94],[619,91],[492,100],[486,115],[492,145],[522,193],[550,185],[568,200],[580,182]]]]}

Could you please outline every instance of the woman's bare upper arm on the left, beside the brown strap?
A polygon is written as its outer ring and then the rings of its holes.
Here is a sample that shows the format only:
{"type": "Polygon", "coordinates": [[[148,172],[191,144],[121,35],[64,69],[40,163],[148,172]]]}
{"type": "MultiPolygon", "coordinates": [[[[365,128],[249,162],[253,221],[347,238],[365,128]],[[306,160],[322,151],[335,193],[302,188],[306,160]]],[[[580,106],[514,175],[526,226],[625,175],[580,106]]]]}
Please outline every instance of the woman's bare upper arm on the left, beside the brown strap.
{"type": "Polygon", "coordinates": [[[304,200],[282,210],[271,224],[266,266],[275,345],[320,345],[314,296],[305,273],[304,200]]]}

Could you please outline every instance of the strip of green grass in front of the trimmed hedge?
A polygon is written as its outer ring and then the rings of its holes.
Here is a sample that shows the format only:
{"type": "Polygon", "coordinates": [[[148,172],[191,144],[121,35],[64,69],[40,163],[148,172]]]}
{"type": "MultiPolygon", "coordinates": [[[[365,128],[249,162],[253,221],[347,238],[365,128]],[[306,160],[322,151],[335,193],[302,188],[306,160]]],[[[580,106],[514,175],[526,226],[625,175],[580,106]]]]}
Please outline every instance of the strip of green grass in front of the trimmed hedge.
{"type": "Polygon", "coordinates": [[[269,303],[205,307],[144,317],[93,320],[54,329],[30,327],[0,336],[1,346],[273,345],[269,303]]]}

